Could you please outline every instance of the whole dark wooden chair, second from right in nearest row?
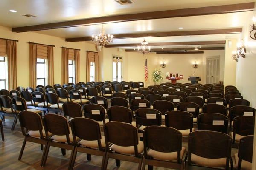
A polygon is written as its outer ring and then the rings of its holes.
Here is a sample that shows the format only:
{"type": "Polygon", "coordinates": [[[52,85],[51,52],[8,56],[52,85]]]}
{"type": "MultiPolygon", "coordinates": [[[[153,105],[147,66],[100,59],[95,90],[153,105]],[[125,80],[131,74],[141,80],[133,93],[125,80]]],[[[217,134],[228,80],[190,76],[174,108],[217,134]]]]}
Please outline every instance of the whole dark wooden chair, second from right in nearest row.
{"type": "Polygon", "coordinates": [[[190,133],[186,168],[201,166],[229,170],[231,140],[221,132],[198,130],[190,133]]]}

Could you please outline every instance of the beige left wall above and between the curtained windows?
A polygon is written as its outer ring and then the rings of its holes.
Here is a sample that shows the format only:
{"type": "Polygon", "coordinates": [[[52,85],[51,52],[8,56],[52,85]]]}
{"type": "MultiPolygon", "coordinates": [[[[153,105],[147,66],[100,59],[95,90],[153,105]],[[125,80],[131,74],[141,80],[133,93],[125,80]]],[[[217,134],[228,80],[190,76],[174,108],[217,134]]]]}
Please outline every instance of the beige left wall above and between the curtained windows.
{"type": "Polygon", "coordinates": [[[38,34],[34,32],[15,33],[12,28],[0,26],[0,37],[19,40],[17,42],[17,85],[29,86],[29,44],[36,42],[55,45],[54,51],[54,82],[61,82],[61,47],[78,48],[80,51],[80,81],[86,81],[86,51],[96,51],[95,45],[85,42],[66,42],[63,38],[38,34]]]}

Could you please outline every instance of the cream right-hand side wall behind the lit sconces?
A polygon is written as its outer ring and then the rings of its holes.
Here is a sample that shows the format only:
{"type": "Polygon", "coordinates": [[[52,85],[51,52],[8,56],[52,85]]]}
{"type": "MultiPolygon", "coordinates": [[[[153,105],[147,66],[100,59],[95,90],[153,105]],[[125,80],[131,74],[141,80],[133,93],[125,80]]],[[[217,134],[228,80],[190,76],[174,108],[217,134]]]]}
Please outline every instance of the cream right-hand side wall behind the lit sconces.
{"type": "MultiPolygon", "coordinates": [[[[252,24],[252,17],[256,16],[256,11],[246,18],[247,24],[243,27],[242,39],[246,48],[246,58],[239,58],[236,64],[236,88],[239,89],[244,99],[250,101],[251,107],[256,107],[256,40],[249,37],[252,24]]],[[[254,136],[256,135],[256,126],[254,136]]],[[[253,165],[252,170],[256,170],[256,138],[253,144],[253,165]]]]}

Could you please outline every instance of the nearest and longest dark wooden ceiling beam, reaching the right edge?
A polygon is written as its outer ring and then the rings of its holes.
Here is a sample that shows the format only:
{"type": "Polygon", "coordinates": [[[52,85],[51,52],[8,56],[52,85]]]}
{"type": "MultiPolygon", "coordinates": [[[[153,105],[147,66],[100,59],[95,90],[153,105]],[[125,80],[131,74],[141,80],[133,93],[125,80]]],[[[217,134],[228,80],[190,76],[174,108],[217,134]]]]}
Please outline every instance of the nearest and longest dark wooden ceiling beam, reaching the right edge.
{"type": "Polygon", "coordinates": [[[211,14],[226,14],[233,12],[253,11],[254,2],[239,3],[222,6],[207,6],[199,8],[174,9],[167,11],[143,12],[137,14],[123,14],[107,17],[95,17],[81,20],[63,21],[58,23],[39,24],[34,26],[23,26],[12,28],[13,32],[40,31],[47,29],[68,28],[76,26],[89,26],[95,24],[118,23],[137,20],[151,20],[160,18],[189,17],[211,14]]]}

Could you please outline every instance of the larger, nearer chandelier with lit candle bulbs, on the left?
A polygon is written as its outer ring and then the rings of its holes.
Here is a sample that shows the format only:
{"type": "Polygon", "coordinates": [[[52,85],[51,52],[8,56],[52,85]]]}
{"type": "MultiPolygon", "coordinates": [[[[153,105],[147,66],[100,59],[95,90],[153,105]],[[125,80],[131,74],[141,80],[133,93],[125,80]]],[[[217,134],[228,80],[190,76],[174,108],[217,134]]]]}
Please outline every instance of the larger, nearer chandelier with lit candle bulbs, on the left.
{"type": "Polygon", "coordinates": [[[96,45],[104,47],[105,45],[108,45],[110,42],[113,41],[113,35],[107,35],[102,25],[102,31],[99,31],[99,34],[92,35],[92,41],[95,42],[96,45]]]}

